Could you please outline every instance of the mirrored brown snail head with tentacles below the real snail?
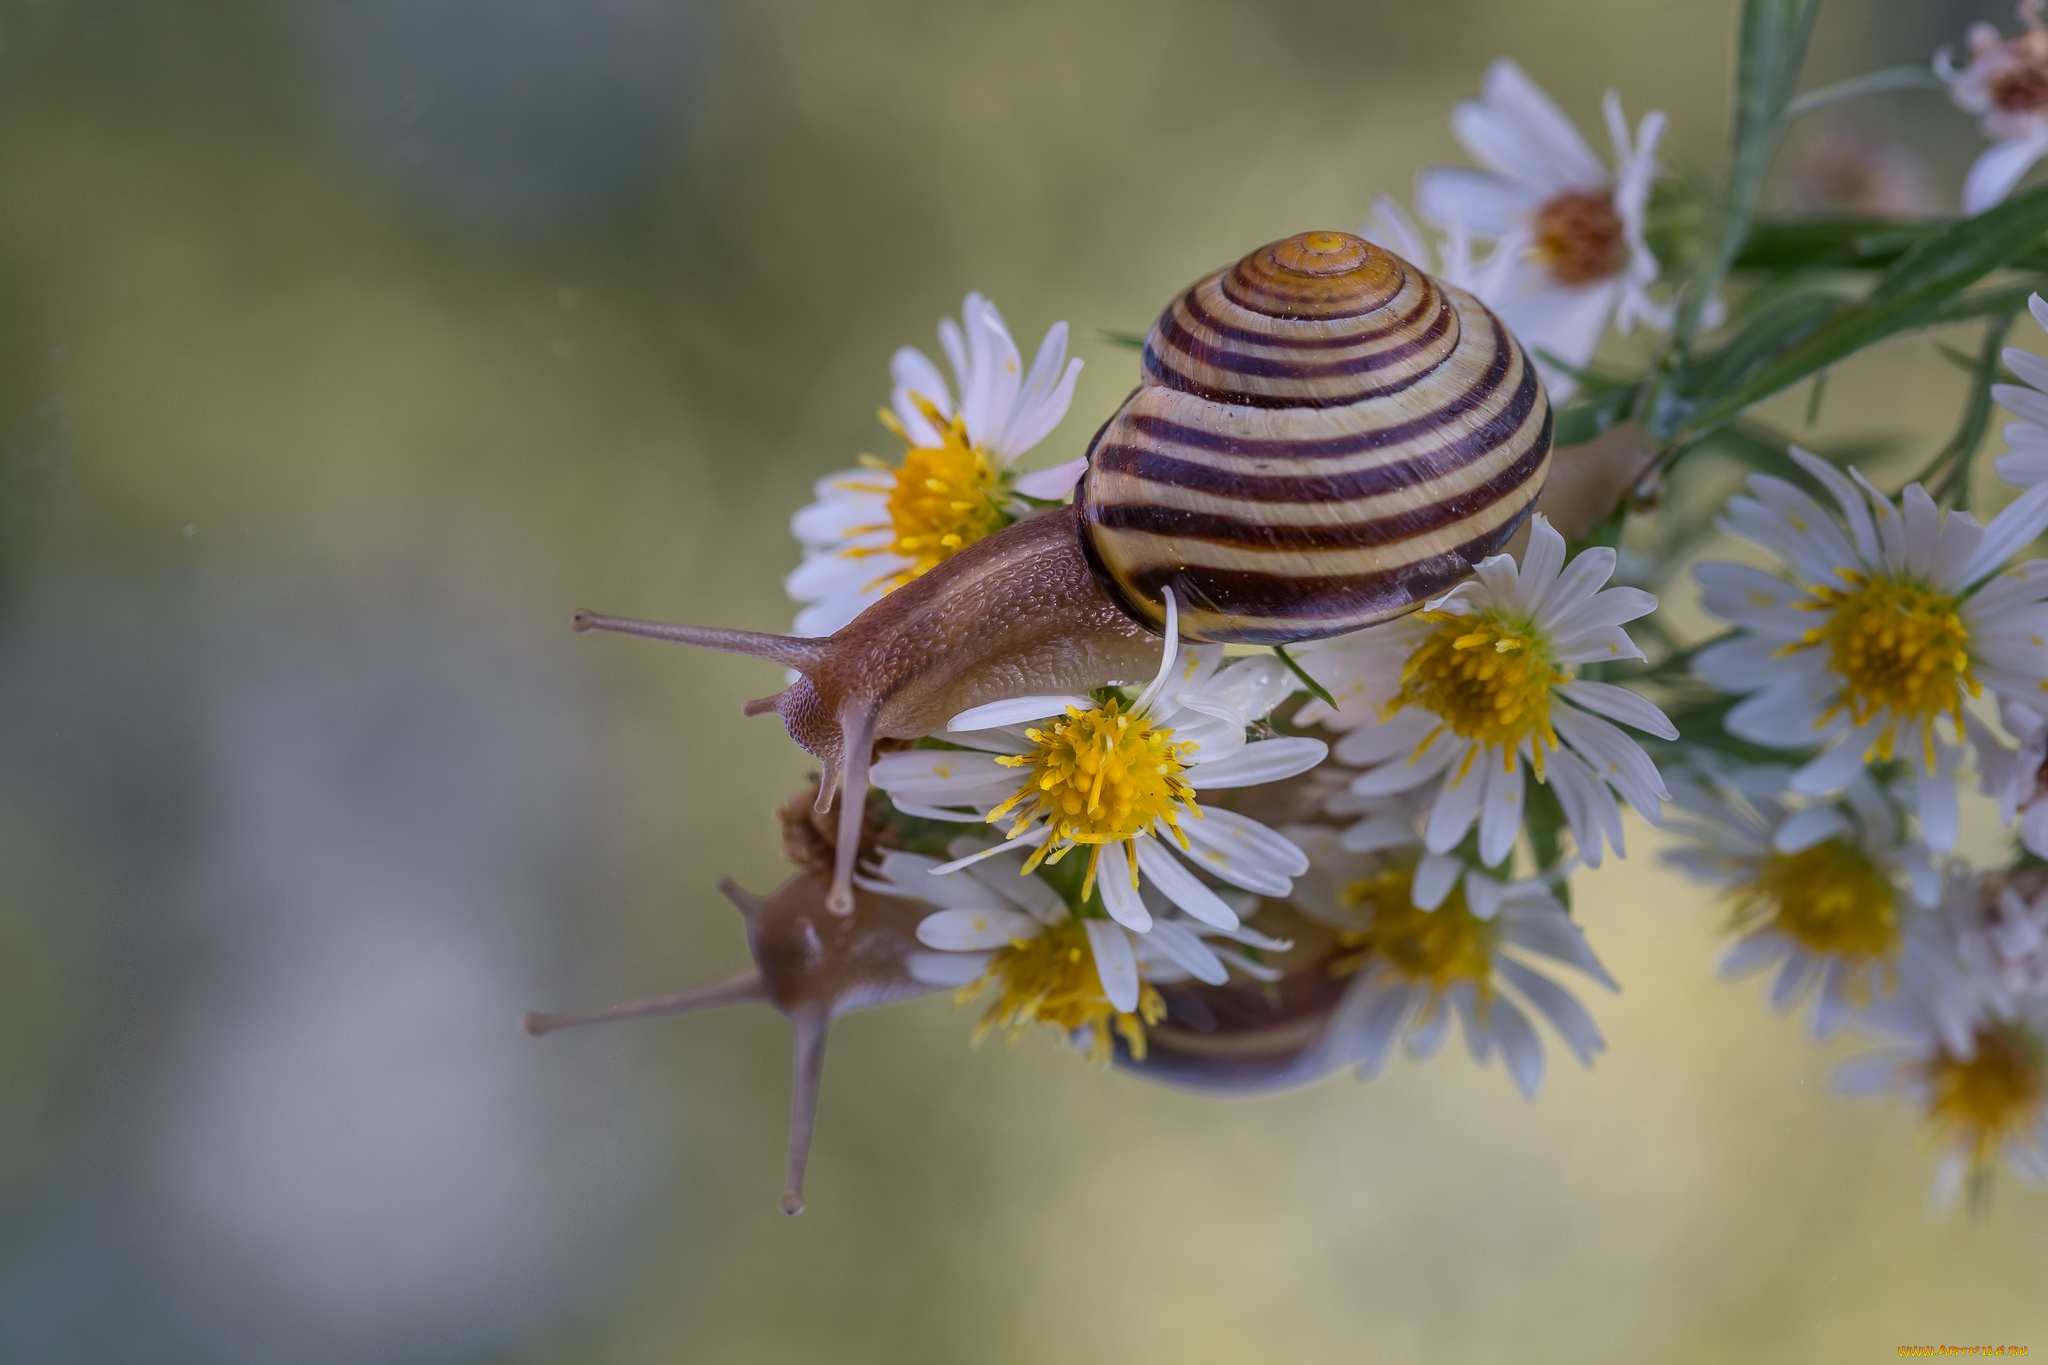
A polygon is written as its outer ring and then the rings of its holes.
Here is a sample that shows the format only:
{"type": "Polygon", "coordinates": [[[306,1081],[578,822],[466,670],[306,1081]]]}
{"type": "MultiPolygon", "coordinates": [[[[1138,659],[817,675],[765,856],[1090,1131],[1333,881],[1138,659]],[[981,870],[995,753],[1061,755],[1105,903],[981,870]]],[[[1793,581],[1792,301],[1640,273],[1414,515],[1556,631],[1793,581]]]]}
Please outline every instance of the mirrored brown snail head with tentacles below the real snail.
{"type": "MultiPolygon", "coordinates": [[[[864,802],[852,802],[862,808],[864,802]]],[[[797,1068],[788,1115],[788,1175],[782,1185],[782,1212],[803,1212],[803,1171],[811,1156],[811,1130],[817,1119],[817,1095],[825,1068],[825,1033],[831,1023],[856,1009],[893,1005],[930,986],[909,970],[911,954],[920,952],[918,921],[930,907],[920,907],[870,890],[856,892],[852,915],[827,915],[825,896],[831,890],[831,837],[805,817],[809,796],[782,810],[782,841],[799,872],[768,896],[756,896],[731,878],[719,880],[725,898],[739,907],[748,925],[748,952],[754,966],[737,976],[688,990],[655,995],[600,1009],[573,1013],[526,1015],[532,1036],[586,1023],[621,1023],[659,1015],[686,1015],[723,1005],[764,1003],[778,1009],[795,1033],[797,1068]]],[[[862,833],[864,851],[872,853],[872,821],[862,833]]]]}

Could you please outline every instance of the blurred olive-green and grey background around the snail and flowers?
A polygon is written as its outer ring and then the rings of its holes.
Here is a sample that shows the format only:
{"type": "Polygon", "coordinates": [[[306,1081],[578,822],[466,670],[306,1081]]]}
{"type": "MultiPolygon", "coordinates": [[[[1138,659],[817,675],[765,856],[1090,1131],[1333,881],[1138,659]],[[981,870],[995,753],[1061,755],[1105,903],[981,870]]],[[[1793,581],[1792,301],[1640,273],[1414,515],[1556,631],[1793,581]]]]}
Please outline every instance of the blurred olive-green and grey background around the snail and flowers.
{"type": "MultiPolygon", "coordinates": [[[[784,1220],[778,1017],[518,1029],[741,966],[711,884],[782,878],[805,776],[762,665],[573,608],[782,628],[788,512],[969,289],[1071,319],[1077,454],[1100,329],[1405,196],[1497,53],[1712,176],[1733,10],[0,4],[0,1359],[2048,1351],[2048,1201],[1931,1218],[1640,825],[1577,888],[1612,1050],[1536,1103],[1452,1050],[1198,1099],[940,997],[842,1023],[784,1220]]],[[[1808,82],[1978,16],[1837,0],[1808,82]]],[[[1980,145],[1817,131],[1929,207],[1980,145]]],[[[1825,426],[1925,450],[1956,393],[1915,340],[1825,426]]]]}

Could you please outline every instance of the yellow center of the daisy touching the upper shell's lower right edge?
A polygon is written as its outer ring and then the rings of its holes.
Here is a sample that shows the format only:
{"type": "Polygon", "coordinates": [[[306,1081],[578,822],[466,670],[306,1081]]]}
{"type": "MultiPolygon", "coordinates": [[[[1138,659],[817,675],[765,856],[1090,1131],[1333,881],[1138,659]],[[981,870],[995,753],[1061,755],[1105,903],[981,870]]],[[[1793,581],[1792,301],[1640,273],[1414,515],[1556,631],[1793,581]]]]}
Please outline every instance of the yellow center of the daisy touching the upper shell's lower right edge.
{"type": "MultiPolygon", "coordinates": [[[[1530,763],[1540,780],[1544,749],[1556,747],[1550,688],[1571,677],[1550,661],[1548,643],[1534,624],[1505,612],[1417,612],[1417,620],[1436,624],[1436,630],[1409,655],[1401,692],[1386,704],[1386,714],[1421,706],[1442,720],[1430,739],[1448,729],[1462,739],[1497,745],[1509,765],[1522,741],[1532,739],[1530,763]]],[[[1458,776],[1464,776],[1462,769],[1458,776]]]]}

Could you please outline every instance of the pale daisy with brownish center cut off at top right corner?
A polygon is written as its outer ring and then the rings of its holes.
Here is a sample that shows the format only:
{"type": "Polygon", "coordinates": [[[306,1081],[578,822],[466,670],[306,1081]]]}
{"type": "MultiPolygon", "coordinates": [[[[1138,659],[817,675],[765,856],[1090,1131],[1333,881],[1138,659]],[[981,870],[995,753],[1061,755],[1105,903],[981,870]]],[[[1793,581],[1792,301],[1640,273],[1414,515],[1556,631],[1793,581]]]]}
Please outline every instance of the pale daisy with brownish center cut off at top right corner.
{"type": "Polygon", "coordinates": [[[2048,29],[2042,0],[2019,0],[2019,33],[2001,37],[1991,25],[1970,25],[1970,61],[1956,63],[1948,47],[1933,55],[1933,72],[1948,82],[1956,108],[1978,119],[1991,147],[1962,182],[1962,211],[1991,209],[2048,156],[2048,29]]]}

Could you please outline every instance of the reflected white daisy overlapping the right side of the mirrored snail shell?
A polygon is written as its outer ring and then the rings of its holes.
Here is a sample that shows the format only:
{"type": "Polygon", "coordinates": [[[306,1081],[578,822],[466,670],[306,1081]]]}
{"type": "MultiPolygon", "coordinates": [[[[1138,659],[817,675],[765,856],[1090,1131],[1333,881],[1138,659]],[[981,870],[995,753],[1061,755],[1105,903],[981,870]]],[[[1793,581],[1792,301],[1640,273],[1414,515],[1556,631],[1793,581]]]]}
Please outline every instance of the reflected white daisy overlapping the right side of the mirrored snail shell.
{"type": "Polygon", "coordinates": [[[1610,990],[1614,978],[1540,878],[1501,882],[1421,847],[1401,806],[1382,802],[1389,837],[1360,853],[1329,831],[1290,831],[1311,849],[1313,874],[1294,905],[1339,931],[1333,970],[1358,974],[1327,1036],[1343,1064],[1372,1078],[1397,1040],[1415,1060],[1444,1046],[1452,1017],[1475,1062],[1501,1056],[1524,1095],[1542,1083],[1544,1048],[1530,1013],[1546,1019],[1583,1066],[1606,1050],[1585,1007],[1536,962],[1563,962],[1610,990]],[[1448,866],[1446,866],[1448,864],[1448,866]]]}

